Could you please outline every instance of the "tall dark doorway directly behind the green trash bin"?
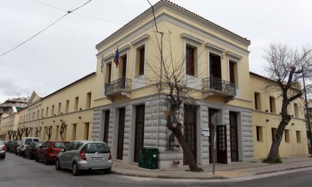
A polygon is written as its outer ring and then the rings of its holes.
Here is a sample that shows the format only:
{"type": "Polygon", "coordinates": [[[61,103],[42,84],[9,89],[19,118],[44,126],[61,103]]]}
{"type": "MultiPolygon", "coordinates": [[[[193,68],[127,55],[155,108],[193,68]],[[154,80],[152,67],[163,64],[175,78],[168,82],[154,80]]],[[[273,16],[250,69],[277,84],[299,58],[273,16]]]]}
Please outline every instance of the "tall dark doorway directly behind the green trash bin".
{"type": "Polygon", "coordinates": [[[134,162],[139,160],[139,150],[144,146],[144,116],[145,106],[137,106],[135,111],[135,147],[134,162]]]}

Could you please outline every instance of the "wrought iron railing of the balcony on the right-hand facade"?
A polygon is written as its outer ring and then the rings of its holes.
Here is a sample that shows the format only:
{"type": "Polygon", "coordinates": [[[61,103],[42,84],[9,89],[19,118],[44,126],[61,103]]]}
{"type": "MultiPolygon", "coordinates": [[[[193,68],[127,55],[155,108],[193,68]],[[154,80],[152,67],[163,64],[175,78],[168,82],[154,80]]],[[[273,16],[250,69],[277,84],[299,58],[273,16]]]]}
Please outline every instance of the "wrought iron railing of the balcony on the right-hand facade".
{"type": "Polygon", "coordinates": [[[203,91],[216,91],[228,96],[236,96],[235,84],[216,77],[203,79],[203,91]]]}

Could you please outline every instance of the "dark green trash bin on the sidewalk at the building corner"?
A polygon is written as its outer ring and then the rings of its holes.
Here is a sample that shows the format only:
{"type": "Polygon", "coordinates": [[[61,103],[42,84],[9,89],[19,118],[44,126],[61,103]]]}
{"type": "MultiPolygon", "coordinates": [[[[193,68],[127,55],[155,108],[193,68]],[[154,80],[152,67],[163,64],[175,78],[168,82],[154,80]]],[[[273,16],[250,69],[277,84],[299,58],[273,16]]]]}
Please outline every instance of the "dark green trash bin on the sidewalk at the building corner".
{"type": "Polygon", "coordinates": [[[152,147],[140,148],[139,167],[158,169],[158,149],[152,147]]]}

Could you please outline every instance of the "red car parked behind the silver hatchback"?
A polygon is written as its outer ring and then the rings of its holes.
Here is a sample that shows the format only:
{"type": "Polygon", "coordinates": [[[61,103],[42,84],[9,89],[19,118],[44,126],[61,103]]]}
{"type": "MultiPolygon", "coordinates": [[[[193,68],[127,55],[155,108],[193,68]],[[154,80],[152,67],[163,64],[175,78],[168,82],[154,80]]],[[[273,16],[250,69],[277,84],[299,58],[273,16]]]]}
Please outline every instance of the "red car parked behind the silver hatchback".
{"type": "Polygon", "coordinates": [[[44,161],[45,165],[55,162],[57,155],[64,150],[68,143],[64,141],[44,142],[37,151],[35,162],[44,161]]]}

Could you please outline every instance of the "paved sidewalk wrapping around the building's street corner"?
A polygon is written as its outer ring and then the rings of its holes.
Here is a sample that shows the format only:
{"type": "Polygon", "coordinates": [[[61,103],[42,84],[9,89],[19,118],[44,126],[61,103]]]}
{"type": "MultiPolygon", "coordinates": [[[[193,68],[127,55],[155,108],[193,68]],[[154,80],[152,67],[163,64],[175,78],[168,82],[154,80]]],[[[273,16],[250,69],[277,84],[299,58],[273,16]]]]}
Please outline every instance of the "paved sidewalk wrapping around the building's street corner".
{"type": "Polygon", "coordinates": [[[204,171],[187,171],[189,166],[174,169],[144,169],[137,163],[113,161],[112,173],[124,176],[140,176],[162,179],[232,179],[243,176],[255,176],[277,171],[312,167],[312,158],[308,155],[282,158],[282,164],[264,164],[262,160],[253,162],[232,162],[230,164],[216,164],[216,174],[212,174],[213,164],[201,166],[204,171]]]}

